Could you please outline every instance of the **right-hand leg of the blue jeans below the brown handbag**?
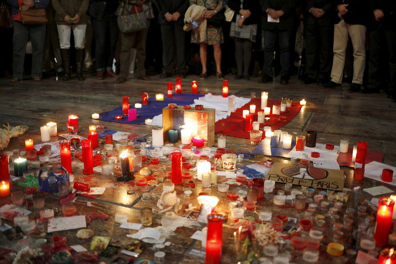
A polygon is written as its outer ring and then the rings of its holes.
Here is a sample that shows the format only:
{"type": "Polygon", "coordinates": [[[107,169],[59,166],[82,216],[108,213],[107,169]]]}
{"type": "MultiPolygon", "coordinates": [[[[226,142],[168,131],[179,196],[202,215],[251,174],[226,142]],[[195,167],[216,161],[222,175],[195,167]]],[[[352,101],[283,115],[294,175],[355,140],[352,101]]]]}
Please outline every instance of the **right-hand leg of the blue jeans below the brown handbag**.
{"type": "Polygon", "coordinates": [[[38,77],[41,79],[43,75],[43,49],[46,39],[46,25],[31,25],[30,39],[32,41],[32,78],[38,77]]]}

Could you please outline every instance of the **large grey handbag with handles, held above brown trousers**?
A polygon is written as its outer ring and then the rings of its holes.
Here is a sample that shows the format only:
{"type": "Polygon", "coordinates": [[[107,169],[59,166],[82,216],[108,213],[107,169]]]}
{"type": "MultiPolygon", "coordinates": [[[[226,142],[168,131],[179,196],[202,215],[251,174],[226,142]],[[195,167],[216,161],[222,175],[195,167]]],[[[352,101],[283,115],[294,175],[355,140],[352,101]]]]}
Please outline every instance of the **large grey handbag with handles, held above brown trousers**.
{"type": "Polygon", "coordinates": [[[125,7],[128,5],[128,0],[124,5],[123,14],[117,16],[118,28],[122,33],[132,33],[147,28],[147,19],[144,12],[138,12],[138,8],[134,5],[135,14],[125,13],[125,7]]]}

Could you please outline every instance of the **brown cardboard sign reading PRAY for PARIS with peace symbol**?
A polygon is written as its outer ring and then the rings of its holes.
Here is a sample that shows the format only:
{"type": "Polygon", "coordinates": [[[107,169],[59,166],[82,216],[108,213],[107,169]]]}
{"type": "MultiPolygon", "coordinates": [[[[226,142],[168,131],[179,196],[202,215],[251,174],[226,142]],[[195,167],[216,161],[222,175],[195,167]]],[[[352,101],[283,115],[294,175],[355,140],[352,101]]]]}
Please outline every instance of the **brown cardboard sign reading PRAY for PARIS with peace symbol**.
{"type": "Polygon", "coordinates": [[[344,188],[343,170],[306,167],[306,172],[301,172],[300,167],[290,163],[275,162],[265,179],[336,191],[344,188]]]}

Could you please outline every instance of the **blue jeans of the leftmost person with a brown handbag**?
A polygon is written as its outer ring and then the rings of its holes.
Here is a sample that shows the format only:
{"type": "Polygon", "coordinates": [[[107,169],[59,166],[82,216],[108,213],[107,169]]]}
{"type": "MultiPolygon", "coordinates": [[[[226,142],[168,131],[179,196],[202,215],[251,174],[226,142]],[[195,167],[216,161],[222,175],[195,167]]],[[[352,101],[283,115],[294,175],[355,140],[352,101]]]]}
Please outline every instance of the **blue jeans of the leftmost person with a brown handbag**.
{"type": "Polygon", "coordinates": [[[46,25],[24,25],[14,20],[13,36],[13,77],[23,78],[23,63],[25,61],[26,44],[32,41],[32,77],[42,77],[43,49],[46,39],[46,25]]]}

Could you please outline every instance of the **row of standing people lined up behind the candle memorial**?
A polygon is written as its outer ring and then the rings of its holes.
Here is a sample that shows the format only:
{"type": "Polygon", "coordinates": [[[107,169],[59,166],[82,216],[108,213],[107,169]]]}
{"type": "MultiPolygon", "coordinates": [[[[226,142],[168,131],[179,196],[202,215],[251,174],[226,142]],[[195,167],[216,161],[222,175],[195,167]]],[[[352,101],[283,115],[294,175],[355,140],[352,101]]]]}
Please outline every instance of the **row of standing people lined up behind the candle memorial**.
{"type": "Polygon", "coordinates": [[[156,56],[162,61],[161,78],[173,74],[185,77],[194,68],[191,62],[198,58],[200,79],[211,71],[224,79],[225,73],[232,71],[230,65],[235,65],[234,78],[249,80],[259,65],[260,83],[272,82],[274,74],[280,74],[280,83],[286,85],[297,57],[303,84],[332,88],[347,78],[349,92],[377,93],[382,89],[393,99],[396,96],[395,0],[0,2],[1,12],[10,10],[12,17],[10,26],[0,21],[5,39],[0,71],[7,75],[12,68],[11,82],[23,79],[29,41],[35,81],[51,68],[62,72],[65,81],[73,70],[78,80],[84,80],[83,69],[95,63],[98,79],[112,77],[117,83],[127,81],[135,62],[136,77],[149,80],[145,60],[150,53],[157,54],[153,43],[161,42],[162,56],[156,56]],[[42,9],[48,22],[29,22],[29,11],[42,9]],[[123,19],[127,22],[129,15],[144,19],[144,26],[126,29],[123,19]],[[150,34],[156,25],[160,34],[150,34]],[[191,55],[194,46],[196,57],[191,55]]]}

